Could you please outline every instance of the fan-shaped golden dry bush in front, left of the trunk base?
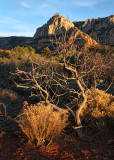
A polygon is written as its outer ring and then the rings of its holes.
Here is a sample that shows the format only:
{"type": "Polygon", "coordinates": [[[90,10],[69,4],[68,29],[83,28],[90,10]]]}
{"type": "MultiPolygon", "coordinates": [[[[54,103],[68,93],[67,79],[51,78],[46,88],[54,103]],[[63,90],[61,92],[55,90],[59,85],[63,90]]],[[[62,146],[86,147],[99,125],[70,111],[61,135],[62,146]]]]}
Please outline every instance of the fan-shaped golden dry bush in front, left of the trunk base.
{"type": "Polygon", "coordinates": [[[49,143],[68,125],[68,112],[44,102],[24,107],[17,122],[30,142],[49,143]]]}

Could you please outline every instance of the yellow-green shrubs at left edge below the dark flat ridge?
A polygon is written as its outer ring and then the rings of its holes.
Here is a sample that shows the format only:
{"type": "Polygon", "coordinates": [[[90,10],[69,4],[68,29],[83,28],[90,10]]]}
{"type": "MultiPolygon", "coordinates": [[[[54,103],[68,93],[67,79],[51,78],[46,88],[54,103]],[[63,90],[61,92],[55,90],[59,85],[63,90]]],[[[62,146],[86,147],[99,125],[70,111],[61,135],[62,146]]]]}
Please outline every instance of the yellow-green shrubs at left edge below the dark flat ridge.
{"type": "Polygon", "coordinates": [[[35,50],[31,47],[17,46],[11,51],[0,50],[0,85],[5,86],[12,81],[11,73],[14,73],[16,68],[30,68],[30,59],[37,59],[36,57],[35,50]]]}

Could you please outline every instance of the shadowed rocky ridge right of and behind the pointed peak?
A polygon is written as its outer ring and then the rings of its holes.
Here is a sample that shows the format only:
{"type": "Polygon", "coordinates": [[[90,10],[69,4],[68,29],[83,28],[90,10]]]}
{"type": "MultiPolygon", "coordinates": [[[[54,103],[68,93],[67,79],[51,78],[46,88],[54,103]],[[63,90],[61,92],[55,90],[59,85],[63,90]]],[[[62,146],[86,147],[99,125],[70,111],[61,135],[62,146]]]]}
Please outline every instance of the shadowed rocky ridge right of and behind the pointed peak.
{"type": "Polygon", "coordinates": [[[114,46],[114,15],[73,23],[101,45],[114,46]]]}

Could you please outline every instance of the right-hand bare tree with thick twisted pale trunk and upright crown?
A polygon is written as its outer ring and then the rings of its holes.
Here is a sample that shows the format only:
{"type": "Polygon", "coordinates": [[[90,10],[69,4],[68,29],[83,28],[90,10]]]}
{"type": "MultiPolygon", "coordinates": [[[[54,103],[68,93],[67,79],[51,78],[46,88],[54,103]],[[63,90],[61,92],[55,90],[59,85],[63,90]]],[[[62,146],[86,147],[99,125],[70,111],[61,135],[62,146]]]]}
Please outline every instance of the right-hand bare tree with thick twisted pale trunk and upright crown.
{"type": "MultiPolygon", "coordinates": [[[[82,132],[82,124],[80,119],[80,113],[87,103],[88,94],[90,90],[88,87],[88,80],[92,79],[93,84],[96,85],[97,76],[101,76],[103,63],[101,58],[99,59],[98,55],[96,56],[93,53],[88,52],[88,48],[85,46],[83,50],[78,50],[77,45],[75,44],[75,36],[68,37],[67,34],[62,35],[61,38],[56,39],[56,50],[55,55],[59,55],[61,64],[63,65],[65,71],[69,73],[70,76],[63,75],[61,78],[65,82],[73,81],[75,88],[66,88],[67,91],[77,94],[78,98],[78,108],[74,110],[72,107],[67,105],[68,110],[74,117],[75,126],[79,137],[81,139],[86,138],[82,132]],[[98,75],[99,74],[99,75],[98,75]],[[79,101],[81,99],[81,101],[79,101]]],[[[102,59],[103,60],[103,59],[102,59]]],[[[76,98],[76,97],[74,97],[76,98]]]]}

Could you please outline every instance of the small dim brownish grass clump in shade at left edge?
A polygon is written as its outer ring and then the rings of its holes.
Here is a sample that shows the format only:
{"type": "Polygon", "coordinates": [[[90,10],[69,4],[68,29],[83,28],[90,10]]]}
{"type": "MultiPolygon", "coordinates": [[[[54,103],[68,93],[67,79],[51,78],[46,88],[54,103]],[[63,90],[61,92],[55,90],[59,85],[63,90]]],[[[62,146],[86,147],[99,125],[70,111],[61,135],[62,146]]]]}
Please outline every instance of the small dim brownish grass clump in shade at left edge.
{"type": "Polygon", "coordinates": [[[0,90],[0,99],[8,99],[12,102],[15,102],[18,100],[18,95],[12,90],[3,89],[0,90]]]}

